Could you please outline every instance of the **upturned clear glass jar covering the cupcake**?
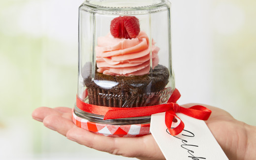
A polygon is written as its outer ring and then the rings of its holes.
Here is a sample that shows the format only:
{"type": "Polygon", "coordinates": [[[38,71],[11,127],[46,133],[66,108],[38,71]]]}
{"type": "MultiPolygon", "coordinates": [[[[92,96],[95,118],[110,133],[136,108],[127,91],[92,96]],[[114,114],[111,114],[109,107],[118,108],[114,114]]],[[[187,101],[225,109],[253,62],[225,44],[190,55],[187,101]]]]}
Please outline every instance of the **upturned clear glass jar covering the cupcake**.
{"type": "MultiPolygon", "coordinates": [[[[77,97],[85,103],[105,107],[166,103],[175,89],[170,29],[168,1],[86,0],[79,7],[77,97]],[[130,17],[139,21],[138,35],[113,36],[110,28],[115,18],[122,21],[122,32],[138,31],[136,27],[130,31],[124,25],[124,19],[130,17]]],[[[104,116],[84,112],[77,106],[74,113],[108,125],[150,123],[150,116],[103,120],[104,116]]]]}

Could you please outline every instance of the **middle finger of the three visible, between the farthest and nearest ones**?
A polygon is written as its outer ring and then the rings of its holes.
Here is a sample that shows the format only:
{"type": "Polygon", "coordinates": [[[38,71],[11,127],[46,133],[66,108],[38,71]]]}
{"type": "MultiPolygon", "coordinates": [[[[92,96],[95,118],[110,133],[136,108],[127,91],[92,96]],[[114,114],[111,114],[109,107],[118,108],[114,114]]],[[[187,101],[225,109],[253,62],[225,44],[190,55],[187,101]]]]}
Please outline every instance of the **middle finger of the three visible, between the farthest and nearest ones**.
{"type": "Polygon", "coordinates": [[[73,124],[72,117],[70,117],[70,115],[71,113],[66,113],[62,116],[49,115],[44,118],[43,124],[45,127],[55,130],[65,136],[69,129],[77,128],[77,126],[73,124]]]}

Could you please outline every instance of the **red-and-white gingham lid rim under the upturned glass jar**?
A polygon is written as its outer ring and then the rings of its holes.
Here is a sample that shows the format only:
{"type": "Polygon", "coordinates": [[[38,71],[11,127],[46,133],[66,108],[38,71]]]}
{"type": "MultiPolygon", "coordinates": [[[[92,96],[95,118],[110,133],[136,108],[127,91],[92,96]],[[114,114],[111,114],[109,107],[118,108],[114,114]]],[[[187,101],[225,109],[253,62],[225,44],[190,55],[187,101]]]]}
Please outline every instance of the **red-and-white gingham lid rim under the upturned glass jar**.
{"type": "Polygon", "coordinates": [[[73,123],[83,129],[95,132],[96,134],[110,137],[139,137],[150,134],[150,124],[138,125],[104,125],[90,122],[86,119],[78,117],[73,109],[73,123]]]}

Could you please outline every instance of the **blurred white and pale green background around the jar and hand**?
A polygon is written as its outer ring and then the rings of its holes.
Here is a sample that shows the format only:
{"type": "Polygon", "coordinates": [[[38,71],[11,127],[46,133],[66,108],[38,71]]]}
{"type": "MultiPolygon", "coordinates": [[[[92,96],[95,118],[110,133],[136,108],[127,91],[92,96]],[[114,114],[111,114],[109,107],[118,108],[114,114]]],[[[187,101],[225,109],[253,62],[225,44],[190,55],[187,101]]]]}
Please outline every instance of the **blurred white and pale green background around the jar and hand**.
{"type": "MultiPolygon", "coordinates": [[[[78,145],[32,120],[72,107],[83,0],[0,0],[0,160],[128,160],[78,145]]],[[[171,0],[180,104],[206,103],[256,125],[256,1],[171,0]]]]}

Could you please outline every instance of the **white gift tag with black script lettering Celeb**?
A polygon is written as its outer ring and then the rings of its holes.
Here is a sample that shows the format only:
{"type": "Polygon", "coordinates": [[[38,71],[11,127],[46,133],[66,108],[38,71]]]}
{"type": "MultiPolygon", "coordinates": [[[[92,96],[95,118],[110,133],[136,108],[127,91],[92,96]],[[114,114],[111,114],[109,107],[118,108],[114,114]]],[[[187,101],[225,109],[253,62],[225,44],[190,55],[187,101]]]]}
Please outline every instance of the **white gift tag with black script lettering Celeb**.
{"type": "MultiPolygon", "coordinates": [[[[204,121],[177,113],[183,131],[172,136],[164,123],[165,113],[151,116],[150,131],[166,160],[228,160],[204,121]]],[[[172,127],[179,124],[173,123],[172,127]]]]}

